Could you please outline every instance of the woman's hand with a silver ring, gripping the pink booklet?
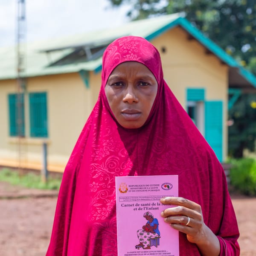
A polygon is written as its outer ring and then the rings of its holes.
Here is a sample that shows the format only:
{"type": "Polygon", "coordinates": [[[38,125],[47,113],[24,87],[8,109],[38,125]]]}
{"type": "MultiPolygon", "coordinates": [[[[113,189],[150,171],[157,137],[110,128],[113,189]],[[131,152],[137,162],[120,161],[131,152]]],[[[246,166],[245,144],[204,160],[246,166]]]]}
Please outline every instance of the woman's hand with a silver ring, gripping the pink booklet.
{"type": "Polygon", "coordinates": [[[161,212],[166,223],[169,223],[175,230],[185,233],[189,242],[197,244],[202,255],[219,255],[218,238],[204,224],[199,204],[181,197],[161,198],[160,202],[174,206],[161,212]]]}

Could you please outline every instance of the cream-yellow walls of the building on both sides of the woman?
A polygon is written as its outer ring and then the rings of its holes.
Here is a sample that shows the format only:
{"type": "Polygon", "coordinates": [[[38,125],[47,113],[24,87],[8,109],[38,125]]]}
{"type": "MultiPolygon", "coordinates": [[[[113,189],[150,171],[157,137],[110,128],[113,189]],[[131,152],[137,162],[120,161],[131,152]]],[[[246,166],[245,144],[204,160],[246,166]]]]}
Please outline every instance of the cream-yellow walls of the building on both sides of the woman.
{"type": "MultiPolygon", "coordinates": [[[[152,41],[160,51],[164,78],[186,109],[186,89],[205,88],[206,100],[224,103],[223,123],[227,119],[228,69],[218,58],[207,54],[195,40],[175,28],[152,41]],[[162,51],[165,47],[165,52],[162,51]]],[[[16,81],[0,81],[0,165],[41,169],[42,143],[48,145],[48,169],[64,171],[79,134],[95,105],[101,86],[101,72],[89,73],[86,87],[78,73],[29,78],[26,93],[47,92],[48,138],[29,137],[29,111],[26,100],[26,138],[9,136],[8,94],[15,93],[16,81]]],[[[26,99],[26,97],[25,97],[26,99]]],[[[224,126],[224,157],[227,128],[224,126]]]]}

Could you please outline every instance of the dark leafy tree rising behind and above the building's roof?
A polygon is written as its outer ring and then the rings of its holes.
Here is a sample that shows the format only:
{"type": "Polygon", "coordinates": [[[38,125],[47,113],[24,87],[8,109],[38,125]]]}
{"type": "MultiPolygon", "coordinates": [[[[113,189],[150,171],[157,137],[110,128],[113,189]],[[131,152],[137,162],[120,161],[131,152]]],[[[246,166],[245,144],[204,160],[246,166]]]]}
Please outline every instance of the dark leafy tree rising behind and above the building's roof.
{"type": "Polygon", "coordinates": [[[132,20],[184,12],[206,36],[256,74],[256,0],[109,0],[132,20]]]}

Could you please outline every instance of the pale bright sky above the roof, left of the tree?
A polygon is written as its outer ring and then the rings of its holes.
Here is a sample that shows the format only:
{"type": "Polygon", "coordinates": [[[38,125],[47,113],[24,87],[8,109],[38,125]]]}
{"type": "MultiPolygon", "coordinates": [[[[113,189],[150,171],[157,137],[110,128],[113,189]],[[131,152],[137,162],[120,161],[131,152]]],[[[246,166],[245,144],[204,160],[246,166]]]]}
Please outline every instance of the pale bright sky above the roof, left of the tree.
{"type": "MultiPolygon", "coordinates": [[[[0,47],[17,41],[17,3],[0,0],[0,47]]],[[[108,0],[25,0],[26,42],[96,29],[128,22],[128,6],[113,8],[108,0]]]]}

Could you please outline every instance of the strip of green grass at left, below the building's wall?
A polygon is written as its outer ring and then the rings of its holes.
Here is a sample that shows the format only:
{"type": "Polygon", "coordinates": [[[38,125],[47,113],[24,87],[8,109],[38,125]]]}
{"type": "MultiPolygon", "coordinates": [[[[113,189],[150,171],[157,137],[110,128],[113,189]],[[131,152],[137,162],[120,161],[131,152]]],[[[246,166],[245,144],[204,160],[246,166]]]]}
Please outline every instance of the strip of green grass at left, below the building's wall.
{"type": "Polygon", "coordinates": [[[7,168],[0,169],[0,181],[33,189],[58,190],[61,185],[61,179],[49,177],[47,183],[44,183],[41,180],[41,176],[33,172],[20,175],[19,172],[7,168]]]}

